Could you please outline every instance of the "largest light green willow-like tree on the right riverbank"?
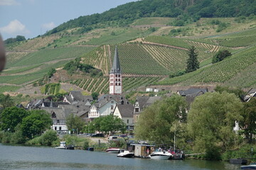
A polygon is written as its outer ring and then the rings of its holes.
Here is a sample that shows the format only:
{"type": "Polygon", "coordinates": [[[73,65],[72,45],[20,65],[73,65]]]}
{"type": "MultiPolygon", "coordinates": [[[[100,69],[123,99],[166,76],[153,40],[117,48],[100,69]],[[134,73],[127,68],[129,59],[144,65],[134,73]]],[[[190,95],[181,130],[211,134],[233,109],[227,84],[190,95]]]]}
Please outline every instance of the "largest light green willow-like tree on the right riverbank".
{"type": "Polygon", "coordinates": [[[242,103],[235,94],[223,92],[198,96],[188,113],[188,132],[196,152],[206,152],[208,159],[220,159],[235,145],[235,120],[242,120],[242,103]]]}

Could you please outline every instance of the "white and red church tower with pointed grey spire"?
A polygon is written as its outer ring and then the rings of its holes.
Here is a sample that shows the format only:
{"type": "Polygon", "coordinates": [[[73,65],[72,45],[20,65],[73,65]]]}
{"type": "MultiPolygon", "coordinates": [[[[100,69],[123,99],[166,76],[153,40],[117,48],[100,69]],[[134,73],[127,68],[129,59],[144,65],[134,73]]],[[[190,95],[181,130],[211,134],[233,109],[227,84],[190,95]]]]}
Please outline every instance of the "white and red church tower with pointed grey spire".
{"type": "Polygon", "coordinates": [[[114,51],[114,60],[110,70],[110,94],[122,94],[122,72],[119,63],[117,46],[114,51]]]}

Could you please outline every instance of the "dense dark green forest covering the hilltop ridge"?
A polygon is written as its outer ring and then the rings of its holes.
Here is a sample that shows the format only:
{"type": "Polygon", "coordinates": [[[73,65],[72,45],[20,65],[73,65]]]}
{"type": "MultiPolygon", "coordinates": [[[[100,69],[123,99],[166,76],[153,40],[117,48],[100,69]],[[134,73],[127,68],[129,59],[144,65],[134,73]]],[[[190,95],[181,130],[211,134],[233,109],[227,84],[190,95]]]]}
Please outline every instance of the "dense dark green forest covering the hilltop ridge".
{"type": "Polygon", "coordinates": [[[70,28],[86,33],[94,28],[111,25],[128,26],[144,17],[174,17],[174,26],[200,18],[239,17],[256,15],[254,0],[143,0],[130,2],[104,13],[80,16],[48,31],[46,35],[70,28]]]}

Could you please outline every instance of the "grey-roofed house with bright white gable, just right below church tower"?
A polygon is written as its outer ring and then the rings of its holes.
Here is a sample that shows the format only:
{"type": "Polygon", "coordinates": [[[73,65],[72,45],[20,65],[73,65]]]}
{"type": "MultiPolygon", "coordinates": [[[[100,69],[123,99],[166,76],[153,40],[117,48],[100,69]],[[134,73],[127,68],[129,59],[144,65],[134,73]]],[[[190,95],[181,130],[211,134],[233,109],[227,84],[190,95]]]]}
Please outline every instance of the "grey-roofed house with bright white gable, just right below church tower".
{"type": "Polygon", "coordinates": [[[127,130],[134,130],[133,119],[134,106],[132,104],[117,104],[114,108],[113,115],[117,115],[126,124],[127,130]]]}

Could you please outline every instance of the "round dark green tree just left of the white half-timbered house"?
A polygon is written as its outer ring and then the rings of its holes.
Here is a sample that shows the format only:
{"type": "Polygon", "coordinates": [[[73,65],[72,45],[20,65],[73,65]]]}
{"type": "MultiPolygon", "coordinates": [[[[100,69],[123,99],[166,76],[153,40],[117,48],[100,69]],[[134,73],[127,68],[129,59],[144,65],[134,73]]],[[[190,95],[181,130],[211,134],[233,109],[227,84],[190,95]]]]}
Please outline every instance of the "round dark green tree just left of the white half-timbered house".
{"type": "Polygon", "coordinates": [[[29,115],[23,118],[21,123],[21,130],[23,136],[32,139],[36,135],[41,135],[44,130],[50,128],[53,125],[53,121],[50,118],[50,114],[46,111],[29,111],[29,115]]]}

